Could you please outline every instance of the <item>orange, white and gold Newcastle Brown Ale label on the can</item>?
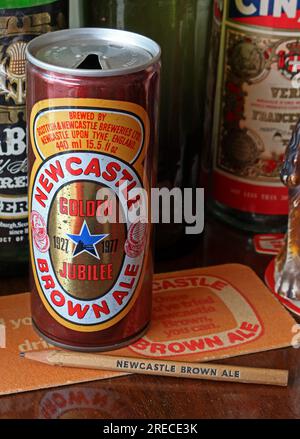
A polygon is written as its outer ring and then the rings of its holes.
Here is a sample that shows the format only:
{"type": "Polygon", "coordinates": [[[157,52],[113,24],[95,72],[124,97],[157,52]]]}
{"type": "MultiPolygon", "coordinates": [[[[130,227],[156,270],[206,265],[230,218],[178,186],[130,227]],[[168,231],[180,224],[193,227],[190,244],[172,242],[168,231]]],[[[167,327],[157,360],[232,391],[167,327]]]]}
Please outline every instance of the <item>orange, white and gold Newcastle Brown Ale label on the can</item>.
{"type": "Polygon", "coordinates": [[[109,328],[135,303],[149,257],[148,225],[128,215],[149,186],[148,115],[128,102],[45,100],[33,107],[30,136],[30,250],[37,290],[63,326],[109,328]],[[107,195],[116,203],[111,211],[107,195]]]}

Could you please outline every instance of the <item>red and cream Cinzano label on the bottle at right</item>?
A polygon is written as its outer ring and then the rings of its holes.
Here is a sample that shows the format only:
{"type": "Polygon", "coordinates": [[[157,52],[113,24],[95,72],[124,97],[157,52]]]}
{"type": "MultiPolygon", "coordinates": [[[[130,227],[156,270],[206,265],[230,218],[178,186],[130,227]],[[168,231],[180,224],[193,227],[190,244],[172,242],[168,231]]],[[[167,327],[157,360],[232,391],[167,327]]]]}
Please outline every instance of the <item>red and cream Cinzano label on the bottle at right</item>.
{"type": "Polygon", "coordinates": [[[288,213],[280,168],[300,117],[300,2],[227,1],[214,130],[214,198],[288,213]]]}

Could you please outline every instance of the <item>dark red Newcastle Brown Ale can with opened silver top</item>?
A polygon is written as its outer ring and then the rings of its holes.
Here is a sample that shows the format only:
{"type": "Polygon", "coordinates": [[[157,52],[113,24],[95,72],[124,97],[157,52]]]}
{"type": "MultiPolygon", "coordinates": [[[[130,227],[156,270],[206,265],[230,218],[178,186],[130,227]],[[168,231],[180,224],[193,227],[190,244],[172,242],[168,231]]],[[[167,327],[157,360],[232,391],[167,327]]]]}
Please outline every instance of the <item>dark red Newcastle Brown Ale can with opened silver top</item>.
{"type": "Polygon", "coordinates": [[[160,47],[82,28],[36,38],[27,60],[33,325],[61,347],[119,348],[151,316],[160,47]]]}

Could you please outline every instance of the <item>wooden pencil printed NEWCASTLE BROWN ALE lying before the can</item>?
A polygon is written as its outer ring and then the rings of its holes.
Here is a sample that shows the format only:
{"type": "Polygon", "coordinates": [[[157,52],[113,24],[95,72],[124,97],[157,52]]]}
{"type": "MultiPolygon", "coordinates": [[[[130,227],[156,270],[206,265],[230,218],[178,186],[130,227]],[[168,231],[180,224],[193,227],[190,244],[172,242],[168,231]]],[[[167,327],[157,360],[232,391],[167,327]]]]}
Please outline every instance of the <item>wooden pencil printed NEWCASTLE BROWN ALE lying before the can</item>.
{"type": "Polygon", "coordinates": [[[52,366],[102,369],[116,372],[193,378],[235,383],[288,385],[288,371],[211,363],[184,363],[145,358],[117,357],[61,350],[31,351],[22,357],[52,366]]]}

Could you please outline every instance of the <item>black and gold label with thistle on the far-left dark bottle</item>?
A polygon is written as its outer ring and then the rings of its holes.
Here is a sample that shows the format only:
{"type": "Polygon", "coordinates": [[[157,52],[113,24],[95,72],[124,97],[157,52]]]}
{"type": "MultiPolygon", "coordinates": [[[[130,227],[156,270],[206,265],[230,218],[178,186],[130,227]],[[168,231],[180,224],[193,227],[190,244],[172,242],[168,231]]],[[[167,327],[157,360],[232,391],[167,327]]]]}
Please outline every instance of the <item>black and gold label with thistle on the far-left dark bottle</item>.
{"type": "Polygon", "coordinates": [[[65,27],[66,5],[0,9],[0,245],[6,250],[28,235],[25,50],[37,35],[65,27]]]}

